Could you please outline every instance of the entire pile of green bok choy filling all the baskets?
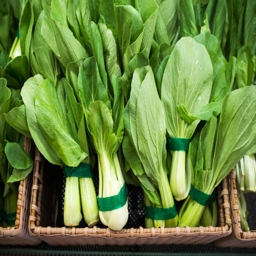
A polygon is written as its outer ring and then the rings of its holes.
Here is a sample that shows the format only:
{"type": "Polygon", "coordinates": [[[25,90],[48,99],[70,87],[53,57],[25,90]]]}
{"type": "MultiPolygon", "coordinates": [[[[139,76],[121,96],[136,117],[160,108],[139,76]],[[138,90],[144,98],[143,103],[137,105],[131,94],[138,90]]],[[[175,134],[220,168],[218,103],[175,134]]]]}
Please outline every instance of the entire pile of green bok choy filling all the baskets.
{"type": "Polygon", "coordinates": [[[243,157],[256,180],[256,1],[2,0],[0,20],[1,159],[30,170],[12,129],[62,167],[66,226],[82,205],[89,227],[122,229],[126,183],[146,228],[216,226],[215,188],[243,157]]]}

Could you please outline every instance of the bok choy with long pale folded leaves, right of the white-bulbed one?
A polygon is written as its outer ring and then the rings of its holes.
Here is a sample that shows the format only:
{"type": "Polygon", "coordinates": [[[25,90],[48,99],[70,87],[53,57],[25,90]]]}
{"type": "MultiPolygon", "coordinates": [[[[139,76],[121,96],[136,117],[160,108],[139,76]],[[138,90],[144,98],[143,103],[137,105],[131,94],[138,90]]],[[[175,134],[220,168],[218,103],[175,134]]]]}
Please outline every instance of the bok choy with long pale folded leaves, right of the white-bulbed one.
{"type": "Polygon", "coordinates": [[[134,71],[124,126],[127,133],[123,141],[126,160],[152,203],[173,209],[172,218],[164,220],[164,226],[175,227],[178,216],[165,169],[164,113],[149,66],[134,71]]]}

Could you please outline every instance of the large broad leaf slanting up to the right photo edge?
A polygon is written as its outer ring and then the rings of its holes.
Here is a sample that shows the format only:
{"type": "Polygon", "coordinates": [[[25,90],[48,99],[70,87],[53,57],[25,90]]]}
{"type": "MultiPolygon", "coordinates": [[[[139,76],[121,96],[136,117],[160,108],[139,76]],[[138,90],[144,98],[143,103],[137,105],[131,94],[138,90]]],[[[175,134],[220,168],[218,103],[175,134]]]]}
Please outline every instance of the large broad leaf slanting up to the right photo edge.
{"type": "Polygon", "coordinates": [[[213,159],[216,187],[256,142],[256,86],[228,93],[221,104],[220,124],[213,159]]]}

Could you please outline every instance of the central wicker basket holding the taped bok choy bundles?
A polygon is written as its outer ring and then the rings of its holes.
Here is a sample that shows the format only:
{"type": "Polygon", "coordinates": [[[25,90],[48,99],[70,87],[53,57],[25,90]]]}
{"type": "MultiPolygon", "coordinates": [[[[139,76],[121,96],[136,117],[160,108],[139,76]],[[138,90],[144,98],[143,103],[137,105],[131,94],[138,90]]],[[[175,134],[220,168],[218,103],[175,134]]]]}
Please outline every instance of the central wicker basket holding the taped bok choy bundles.
{"type": "Polygon", "coordinates": [[[49,207],[54,209],[54,204],[50,203],[48,208],[44,208],[45,200],[41,202],[41,199],[42,196],[47,197],[48,200],[49,197],[52,199],[54,192],[49,192],[49,189],[52,188],[51,185],[47,184],[49,179],[44,179],[43,186],[43,171],[43,159],[40,157],[40,152],[36,150],[29,232],[31,235],[37,236],[51,245],[207,244],[231,233],[226,178],[218,188],[220,227],[162,227],[149,229],[140,227],[122,229],[120,231],[113,231],[110,228],[97,228],[96,226],[93,228],[47,227],[49,220],[45,222],[45,215],[48,215],[50,219],[54,217],[49,209],[49,207]],[[46,196],[46,193],[50,195],[46,196]],[[44,218],[44,221],[42,218],[44,218]]]}

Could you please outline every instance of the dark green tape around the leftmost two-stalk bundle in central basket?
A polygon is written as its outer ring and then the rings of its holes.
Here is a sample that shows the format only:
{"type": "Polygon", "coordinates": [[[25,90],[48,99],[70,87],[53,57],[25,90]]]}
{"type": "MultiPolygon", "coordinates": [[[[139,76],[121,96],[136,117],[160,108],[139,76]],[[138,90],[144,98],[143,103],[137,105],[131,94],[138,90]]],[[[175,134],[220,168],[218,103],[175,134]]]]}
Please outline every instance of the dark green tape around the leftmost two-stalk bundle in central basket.
{"type": "Polygon", "coordinates": [[[93,167],[87,163],[80,163],[77,167],[70,167],[68,165],[64,165],[62,170],[66,174],[66,178],[68,177],[79,177],[79,178],[92,178],[92,170],[93,167]]]}

